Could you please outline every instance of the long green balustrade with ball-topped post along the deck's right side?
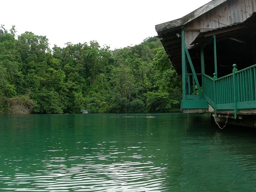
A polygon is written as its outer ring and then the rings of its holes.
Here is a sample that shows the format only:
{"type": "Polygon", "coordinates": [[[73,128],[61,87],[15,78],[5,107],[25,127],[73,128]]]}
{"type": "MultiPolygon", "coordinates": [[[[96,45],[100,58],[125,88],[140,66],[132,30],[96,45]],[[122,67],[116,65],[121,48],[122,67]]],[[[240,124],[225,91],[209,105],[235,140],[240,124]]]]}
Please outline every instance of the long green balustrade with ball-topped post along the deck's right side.
{"type": "Polygon", "coordinates": [[[220,78],[202,74],[203,94],[207,102],[215,109],[234,111],[234,117],[242,109],[256,108],[256,65],[220,78]]]}

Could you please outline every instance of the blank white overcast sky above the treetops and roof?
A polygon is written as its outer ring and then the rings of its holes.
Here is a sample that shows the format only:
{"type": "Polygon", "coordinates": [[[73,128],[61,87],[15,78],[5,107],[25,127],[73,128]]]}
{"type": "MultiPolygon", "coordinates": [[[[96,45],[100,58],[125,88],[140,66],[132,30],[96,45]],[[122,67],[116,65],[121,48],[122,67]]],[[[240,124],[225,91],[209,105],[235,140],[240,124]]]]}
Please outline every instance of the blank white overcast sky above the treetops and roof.
{"type": "Polygon", "coordinates": [[[0,24],[17,35],[47,36],[50,47],[96,40],[123,48],[156,36],[155,25],[178,19],[211,0],[5,0],[0,24]]]}

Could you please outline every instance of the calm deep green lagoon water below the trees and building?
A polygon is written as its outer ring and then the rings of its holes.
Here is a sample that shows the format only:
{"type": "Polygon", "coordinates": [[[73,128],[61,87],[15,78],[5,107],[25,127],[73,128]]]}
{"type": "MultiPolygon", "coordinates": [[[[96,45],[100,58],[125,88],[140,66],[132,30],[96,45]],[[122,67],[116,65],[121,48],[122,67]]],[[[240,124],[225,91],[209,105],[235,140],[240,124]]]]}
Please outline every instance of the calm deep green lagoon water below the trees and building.
{"type": "Polygon", "coordinates": [[[256,131],[148,115],[1,115],[0,191],[256,190],[256,131]]]}

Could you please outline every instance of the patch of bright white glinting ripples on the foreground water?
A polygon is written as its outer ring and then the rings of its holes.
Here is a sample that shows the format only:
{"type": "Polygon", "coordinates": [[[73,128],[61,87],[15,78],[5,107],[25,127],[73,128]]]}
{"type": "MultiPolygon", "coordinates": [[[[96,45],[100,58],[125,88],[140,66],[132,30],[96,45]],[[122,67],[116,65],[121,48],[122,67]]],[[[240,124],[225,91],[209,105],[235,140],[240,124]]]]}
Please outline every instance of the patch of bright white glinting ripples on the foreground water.
{"type": "MultiPolygon", "coordinates": [[[[140,147],[127,147],[133,150],[140,147]]],[[[92,149],[92,148],[91,148],[92,149]]],[[[93,148],[97,150],[98,148],[93,148]]],[[[40,173],[15,174],[14,178],[2,177],[7,186],[35,186],[35,188],[1,188],[13,191],[160,191],[165,185],[165,178],[161,177],[166,167],[156,167],[152,161],[139,161],[142,155],[137,153],[125,156],[125,151],[109,154],[93,152],[86,156],[49,157],[43,160],[45,170],[40,173]],[[97,155],[93,155],[93,154],[97,155]],[[115,158],[137,159],[137,161],[114,162],[115,158]],[[97,160],[96,160],[97,159],[97,160]],[[89,161],[112,159],[110,164],[95,164],[89,161]],[[64,163],[67,160],[85,163],[64,163]],[[104,189],[104,190],[103,190],[104,189]]],[[[130,153],[129,153],[130,154],[130,153]]],[[[106,161],[105,161],[106,162],[106,161]]]]}

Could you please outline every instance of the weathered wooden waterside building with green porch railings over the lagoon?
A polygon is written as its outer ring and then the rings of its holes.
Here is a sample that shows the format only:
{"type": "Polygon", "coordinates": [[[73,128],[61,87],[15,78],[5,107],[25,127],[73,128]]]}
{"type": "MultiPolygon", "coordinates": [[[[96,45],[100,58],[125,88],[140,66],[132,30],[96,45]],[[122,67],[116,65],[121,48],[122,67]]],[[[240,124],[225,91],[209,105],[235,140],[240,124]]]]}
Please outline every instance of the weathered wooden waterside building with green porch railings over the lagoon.
{"type": "Polygon", "coordinates": [[[181,111],[256,127],[256,0],[212,0],[156,32],[182,77],[181,111]]]}

